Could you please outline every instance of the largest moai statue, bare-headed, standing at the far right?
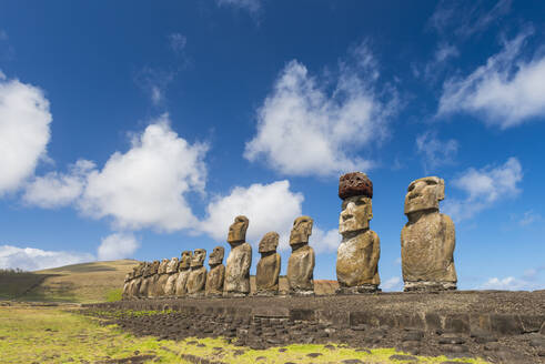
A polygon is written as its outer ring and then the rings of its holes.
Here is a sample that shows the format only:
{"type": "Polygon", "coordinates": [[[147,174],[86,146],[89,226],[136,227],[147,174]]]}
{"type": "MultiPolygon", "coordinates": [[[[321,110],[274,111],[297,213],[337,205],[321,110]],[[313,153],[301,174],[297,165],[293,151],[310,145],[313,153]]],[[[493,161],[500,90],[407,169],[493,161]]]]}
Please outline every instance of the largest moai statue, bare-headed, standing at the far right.
{"type": "Polygon", "coordinates": [[[401,231],[404,291],[456,290],[455,232],[451,218],[440,213],[445,181],[426,176],[411,182],[405,195],[408,222],[401,231]]]}

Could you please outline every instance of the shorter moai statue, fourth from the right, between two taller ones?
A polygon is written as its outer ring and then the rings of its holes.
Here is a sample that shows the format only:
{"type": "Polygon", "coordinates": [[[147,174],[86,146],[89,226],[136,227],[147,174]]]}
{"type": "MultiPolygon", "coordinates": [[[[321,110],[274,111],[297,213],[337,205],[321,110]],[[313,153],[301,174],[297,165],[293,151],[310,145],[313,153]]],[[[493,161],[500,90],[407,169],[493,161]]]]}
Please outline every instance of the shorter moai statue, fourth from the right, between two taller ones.
{"type": "Polygon", "coordinates": [[[258,263],[255,274],[255,295],[279,294],[279,275],[281,260],[276,253],[279,246],[279,234],[275,232],[266,233],[260,241],[261,259],[258,263]]]}

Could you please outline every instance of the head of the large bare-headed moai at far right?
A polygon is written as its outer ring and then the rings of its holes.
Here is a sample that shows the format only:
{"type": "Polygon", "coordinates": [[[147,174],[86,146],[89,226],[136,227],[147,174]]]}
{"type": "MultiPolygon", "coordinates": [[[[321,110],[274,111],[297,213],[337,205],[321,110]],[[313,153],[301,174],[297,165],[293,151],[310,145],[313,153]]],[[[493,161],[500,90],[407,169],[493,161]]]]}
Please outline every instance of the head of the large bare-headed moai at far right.
{"type": "Polygon", "coordinates": [[[416,211],[438,211],[440,201],[445,199],[445,181],[437,176],[425,176],[411,182],[405,195],[405,215],[416,211]]]}

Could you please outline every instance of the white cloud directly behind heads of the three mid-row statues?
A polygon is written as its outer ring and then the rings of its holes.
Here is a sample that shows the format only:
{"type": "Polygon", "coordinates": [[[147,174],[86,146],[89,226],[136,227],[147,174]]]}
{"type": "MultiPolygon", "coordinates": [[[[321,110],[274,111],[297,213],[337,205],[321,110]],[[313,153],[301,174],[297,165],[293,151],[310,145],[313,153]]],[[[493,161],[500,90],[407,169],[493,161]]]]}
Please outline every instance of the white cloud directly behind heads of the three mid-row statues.
{"type": "Polygon", "coordinates": [[[249,243],[258,245],[265,233],[275,231],[281,235],[279,247],[286,249],[293,221],[302,214],[302,202],[303,195],[290,191],[287,181],[236,186],[229,195],[216,196],[206,206],[208,216],[201,222],[200,230],[215,240],[225,241],[234,218],[245,215],[250,220],[249,243]]]}

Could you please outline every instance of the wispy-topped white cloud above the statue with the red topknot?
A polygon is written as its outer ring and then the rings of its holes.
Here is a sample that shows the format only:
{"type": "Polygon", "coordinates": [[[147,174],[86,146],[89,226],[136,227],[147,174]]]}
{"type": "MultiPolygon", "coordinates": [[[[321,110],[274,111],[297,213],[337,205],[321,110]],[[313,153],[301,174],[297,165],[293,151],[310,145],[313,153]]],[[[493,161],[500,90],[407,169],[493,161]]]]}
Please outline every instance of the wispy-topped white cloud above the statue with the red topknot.
{"type": "Polygon", "coordinates": [[[341,62],[332,92],[304,64],[289,62],[258,111],[256,134],[246,143],[244,158],[263,159],[289,175],[369,170],[372,161],[355,152],[387,134],[395,101],[386,105],[373,90],[379,71],[367,46],[357,47],[352,57],[341,62]]]}

